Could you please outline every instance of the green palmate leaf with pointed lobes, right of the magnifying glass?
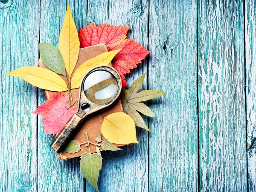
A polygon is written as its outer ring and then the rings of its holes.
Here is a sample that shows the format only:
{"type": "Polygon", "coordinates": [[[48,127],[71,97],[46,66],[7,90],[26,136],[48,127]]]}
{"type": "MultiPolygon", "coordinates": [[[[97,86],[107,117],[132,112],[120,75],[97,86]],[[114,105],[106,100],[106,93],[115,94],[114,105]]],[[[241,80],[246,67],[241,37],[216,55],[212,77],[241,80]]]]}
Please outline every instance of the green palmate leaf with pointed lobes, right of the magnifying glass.
{"type": "Polygon", "coordinates": [[[158,90],[145,90],[137,93],[142,86],[145,75],[146,73],[135,80],[129,89],[122,88],[121,101],[124,112],[134,120],[135,124],[150,131],[138,112],[149,117],[154,117],[154,113],[148,108],[148,106],[140,102],[162,96],[165,92],[160,92],[158,90]]]}

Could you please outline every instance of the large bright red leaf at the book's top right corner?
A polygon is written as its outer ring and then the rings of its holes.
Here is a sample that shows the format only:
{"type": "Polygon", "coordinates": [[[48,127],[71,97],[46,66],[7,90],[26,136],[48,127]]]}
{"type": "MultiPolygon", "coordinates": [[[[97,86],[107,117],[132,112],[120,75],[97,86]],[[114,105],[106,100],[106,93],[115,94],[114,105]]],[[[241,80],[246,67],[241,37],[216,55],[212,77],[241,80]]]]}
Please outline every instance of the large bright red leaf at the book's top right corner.
{"type": "Polygon", "coordinates": [[[130,73],[130,69],[137,67],[137,64],[150,53],[133,39],[126,39],[130,27],[110,26],[107,23],[96,26],[95,23],[91,23],[80,29],[78,34],[81,48],[105,43],[110,51],[122,49],[113,58],[113,67],[121,75],[123,86],[127,85],[124,75],[130,73]]]}

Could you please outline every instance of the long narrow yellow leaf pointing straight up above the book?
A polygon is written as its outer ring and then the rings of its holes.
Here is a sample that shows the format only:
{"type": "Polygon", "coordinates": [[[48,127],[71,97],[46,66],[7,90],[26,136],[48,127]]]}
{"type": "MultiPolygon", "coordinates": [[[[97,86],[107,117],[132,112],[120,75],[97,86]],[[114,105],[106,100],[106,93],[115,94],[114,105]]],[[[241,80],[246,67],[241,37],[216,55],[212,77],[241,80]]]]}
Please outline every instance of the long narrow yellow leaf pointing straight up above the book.
{"type": "Polygon", "coordinates": [[[73,20],[70,6],[67,6],[67,12],[64,17],[63,26],[59,38],[58,49],[63,57],[65,68],[69,77],[71,76],[79,55],[79,38],[76,24],[73,20]]]}

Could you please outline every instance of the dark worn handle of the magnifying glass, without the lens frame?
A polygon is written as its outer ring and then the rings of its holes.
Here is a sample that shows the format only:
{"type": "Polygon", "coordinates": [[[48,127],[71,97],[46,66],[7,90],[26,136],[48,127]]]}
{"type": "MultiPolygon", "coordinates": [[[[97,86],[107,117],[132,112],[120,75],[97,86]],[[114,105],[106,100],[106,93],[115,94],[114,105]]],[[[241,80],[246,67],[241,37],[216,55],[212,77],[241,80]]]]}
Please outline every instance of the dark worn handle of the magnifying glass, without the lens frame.
{"type": "Polygon", "coordinates": [[[64,126],[64,128],[61,130],[61,132],[57,135],[57,137],[54,139],[54,141],[50,145],[50,148],[52,148],[55,152],[61,152],[61,149],[66,146],[67,142],[70,140],[70,137],[73,136],[77,125],[81,121],[82,118],[79,115],[74,114],[64,126]]]}

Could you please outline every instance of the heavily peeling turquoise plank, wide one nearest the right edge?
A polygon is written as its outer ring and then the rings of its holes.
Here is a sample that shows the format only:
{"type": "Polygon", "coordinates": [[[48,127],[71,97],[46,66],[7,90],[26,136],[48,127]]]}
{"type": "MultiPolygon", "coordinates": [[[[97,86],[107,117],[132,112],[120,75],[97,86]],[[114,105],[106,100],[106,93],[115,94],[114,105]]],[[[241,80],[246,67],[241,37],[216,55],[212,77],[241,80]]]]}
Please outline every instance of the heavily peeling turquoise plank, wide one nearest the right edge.
{"type": "Polygon", "coordinates": [[[243,2],[199,1],[201,191],[247,191],[243,2]]]}

